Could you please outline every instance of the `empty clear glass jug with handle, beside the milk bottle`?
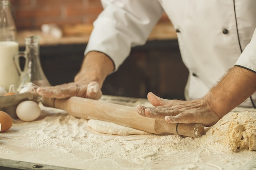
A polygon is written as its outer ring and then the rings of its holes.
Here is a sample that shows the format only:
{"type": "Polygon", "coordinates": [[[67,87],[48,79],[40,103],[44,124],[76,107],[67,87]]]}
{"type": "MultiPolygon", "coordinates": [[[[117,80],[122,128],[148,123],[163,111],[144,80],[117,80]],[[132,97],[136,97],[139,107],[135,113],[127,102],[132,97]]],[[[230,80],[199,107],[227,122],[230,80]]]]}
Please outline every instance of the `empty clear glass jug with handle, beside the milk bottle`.
{"type": "Polygon", "coordinates": [[[40,62],[39,41],[40,37],[38,35],[26,37],[25,51],[18,52],[13,57],[13,60],[16,63],[16,68],[20,73],[20,79],[17,83],[18,92],[20,92],[22,88],[26,88],[27,83],[29,82],[32,82],[37,86],[50,86],[40,62]],[[19,57],[25,58],[23,71],[21,71],[21,68],[18,65],[19,57]]]}

